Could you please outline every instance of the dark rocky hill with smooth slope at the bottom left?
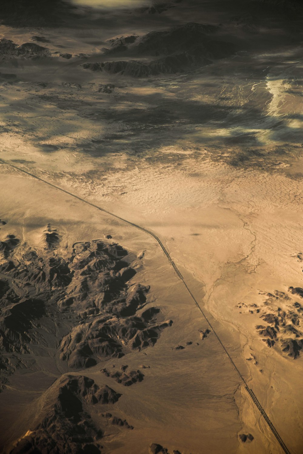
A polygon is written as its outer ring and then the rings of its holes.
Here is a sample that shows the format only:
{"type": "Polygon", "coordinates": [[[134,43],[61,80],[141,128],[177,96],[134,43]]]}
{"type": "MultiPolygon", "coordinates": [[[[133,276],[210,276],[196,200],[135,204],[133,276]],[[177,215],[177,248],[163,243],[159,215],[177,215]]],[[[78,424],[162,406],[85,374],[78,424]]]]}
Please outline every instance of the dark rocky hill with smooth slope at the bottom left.
{"type": "Polygon", "coordinates": [[[98,454],[101,439],[109,424],[132,428],[127,421],[110,414],[94,421],[94,406],[114,405],[120,394],[108,386],[100,388],[84,375],[65,375],[41,397],[35,427],[16,443],[11,454],[98,454]]]}

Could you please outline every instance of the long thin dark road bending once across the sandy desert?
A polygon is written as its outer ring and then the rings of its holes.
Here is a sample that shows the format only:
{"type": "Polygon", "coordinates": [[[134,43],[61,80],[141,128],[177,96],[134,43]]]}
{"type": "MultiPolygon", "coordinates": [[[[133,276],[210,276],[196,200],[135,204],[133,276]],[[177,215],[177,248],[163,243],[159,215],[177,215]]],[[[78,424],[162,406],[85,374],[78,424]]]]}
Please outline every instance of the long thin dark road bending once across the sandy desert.
{"type": "Polygon", "coordinates": [[[175,265],[174,261],[172,260],[172,258],[170,257],[169,255],[169,252],[167,252],[166,248],[164,247],[163,243],[161,242],[161,240],[159,239],[159,237],[157,237],[157,235],[155,235],[153,232],[151,232],[150,230],[144,228],[144,227],[141,227],[137,224],[134,224],[134,222],[130,222],[128,221],[127,219],[124,219],[123,217],[120,217],[112,212],[109,212],[107,210],[105,210],[104,208],[101,208],[99,207],[98,205],[95,205],[94,203],[91,203],[91,202],[88,202],[87,200],[84,200],[83,198],[81,197],[78,197],[77,195],[73,194],[72,192],[69,192],[69,191],[66,191],[65,189],[62,189],[60,188],[59,186],[56,186],[55,184],[52,184],[46,180],[44,180],[43,178],[40,178],[40,177],[37,177],[36,175],[34,175],[33,173],[30,173],[30,172],[27,172],[26,170],[22,169],[22,168],[19,168],[13,164],[10,164],[2,159],[0,159],[0,163],[3,163],[3,164],[6,164],[12,168],[15,168],[16,170],[20,171],[20,172],[23,172],[23,173],[26,173],[27,175],[29,175],[30,177],[32,178],[35,178],[36,180],[39,180],[41,181],[42,183],[45,183],[45,184],[48,184],[49,186],[51,186],[52,188],[55,188],[55,189],[58,189],[59,191],[61,192],[65,192],[66,194],[70,195],[71,197],[74,197],[78,200],[80,200],[81,202],[84,202],[84,203],[87,203],[88,205],[94,207],[94,208],[97,208],[98,210],[102,211],[102,212],[105,212],[107,214],[109,214],[110,216],[113,216],[115,217],[116,219],[119,219],[120,221],[122,222],[125,222],[129,225],[131,225],[132,227],[135,227],[139,230],[141,230],[142,232],[145,232],[147,233],[148,235],[152,236],[156,242],[158,242],[159,246],[161,247],[162,251],[164,252],[165,256],[167,257],[169,263],[171,264],[171,266],[174,268],[174,271],[176,272],[176,274],[179,276],[179,278],[181,279],[181,281],[183,282],[184,286],[186,287],[186,290],[189,292],[189,295],[191,296],[191,298],[193,299],[195,305],[197,306],[197,308],[199,309],[199,311],[201,312],[201,314],[204,316],[205,320],[207,321],[209,327],[211,328],[211,330],[214,332],[214,335],[216,336],[217,340],[219,341],[219,344],[221,345],[221,347],[223,348],[224,352],[226,353],[226,355],[228,356],[228,359],[229,361],[231,362],[233,368],[236,370],[240,380],[243,382],[244,384],[244,388],[245,390],[247,391],[248,395],[250,396],[250,398],[252,399],[254,405],[258,408],[258,410],[260,411],[261,415],[263,416],[263,418],[265,419],[265,422],[268,424],[268,427],[269,429],[272,431],[273,435],[275,436],[275,438],[277,439],[278,443],[280,444],[281,448],[283,449],[283,451],[286,453],[286,454],[291,454],[291,452],[289,451],[289,449],[287,448],[287,446],[284,444],[282,438],[280,437],[280,435],[278,434],[278,431],[277,429],[274,427],[273,423],[270,421],[270,419],[268,418],[268,415],[266,414],[265,410],[263,409],[262,405],[260,404],[260,402],[258,401],[256,395],[254,394],[253,390],[251,388],[248,387],[247,383],[246,383],[246,380],[243,378],[243,376],[241,375],[240,371],[238,370],[237,366],[235,365],[235,363],[233,362],[231,356],[229,355],[228,351],[226,350],[223,342],[220,340],[219,336],[217,335],[216,331],[214,330],[213,326],[211,325],[211,323],[209,322],[208,318],[205,316],[202,308],[199,306],[199,303],[198,301],[195,299],[193,293],[190,291],[189,287],[187,286],[185,280],[184,280],[184,277],[182,276],[182,274],[180,273],[179,269],[177,268],[177,266],[175,265]]]}

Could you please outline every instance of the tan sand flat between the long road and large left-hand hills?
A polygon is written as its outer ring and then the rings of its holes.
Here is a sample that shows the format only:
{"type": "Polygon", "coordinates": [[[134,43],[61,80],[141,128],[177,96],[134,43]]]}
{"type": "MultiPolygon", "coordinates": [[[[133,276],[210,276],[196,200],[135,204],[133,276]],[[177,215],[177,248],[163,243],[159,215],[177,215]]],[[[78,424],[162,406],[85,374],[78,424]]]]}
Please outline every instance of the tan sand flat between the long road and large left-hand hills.
{"type": "MultiPolygon", "coordinates": [[[[10,209],[9,217],[6,217],[8,224],[5,227],[17,237],[22,236],[23,241],[33,247],[39,249],[41,230],[48,221],[56,226],[60,225],[60,232],[68,246],[76,240],[85,241],[110,232],[113,239],[130,252],[144,250],[143,266],[139,265],[137,260],[139,268],[135,279],[151,285],[151,302],[161,307],[166,318],[174,321],[169,332],[164,332],[160,341],[146,353],[134,352],[119,360],[105,361],[107,368],[110,368],[111,364],[118,367],[125,361],[133,368],[138,368],[141,364],[149,365],[149,369],[144,369],[144,381],[136,385],[136,389],[135,386],[125,388],[117,385],[113,379],[104,377],[99,372],[100,364],[84,371],[85,375],[94,378],[96,383],[104,381],[115,390],[121,391],[123,399],[119,401],[117,408],[127,417],[129,423],[135,426],[134,431],[129,434],[104,440],[107,452],[119,453],[121,449],[132,452],[136,449],[136,452],[144,453],[146,445],[154,440],[184,452],[189,452],[189,449],[193,452],[210,449],[219,453],[222,444],[226,446],[227,452],[235,452],[238,447],[237,433],[243,428],[235,403],[235,397],[239,399],[238,377],[214,335],[210,333],[206,339],[200,339],[199,329],[206,329],[207,324],[154,241],[82,202],[77,202],[55,189],[44,188],[41,183],[30,178],[2,175],[1,192],[5,196],[3,212],[14,206],[13,211],[10,209]],[[20,194],[18,201],[12,197],[12,188],[20,194]],[[30,197],[29,202],[30,194],[35,195],[30,197]],[[34,207],[39,216],[31,214],[34,207]],[[187,341],[192,341],[193,345],[186,346],[184,350],[173,350],[177,345],[185,346],[187,341]],[[199,345],[195,345],[196,342],[199,345]]],[[[203,286],[191,278],[190,273],[185,272],[184,276],[197,298],[201,299],[203,286]]],[[[224,330],[220,324],[217,326],[220,331],[224,330]]],[[[236,349],[233,353],[240,352],[238,336],[231,336],[230,341],[233,343],[233,349],[236,349]]],[[[47,376],[60,377],[64,370],[62,367],[60,362],[52,365],[49,360],[44,372],[47,376]],[[59,370],[56,367],[59,367],[59,370]]],[[[242,369],[248,373],[246,367],[242,369]]],[[[24,402],[24,408],[29,405],[29,409],[32,409],[32,404],[27,404],[27,395],[30,392],[28,380],[31,380],[30,375],[27,379],[27,375],[25,371],[25,375],[21,377],[16,373],[10,378],[11,385],[1,396],[3,405],[11,401],[16,390],[21,389],[18,391],[19,399],[24,402]]],[[[39,391],[31,393],[30,399],[32,396],[39,396],[39,391]]],[[[248,400],[246,396],[244,400],[248,400]]],[[[19,406],[12,405],[5,419],[1,420],[7,434],[6,442],[14,441],[29,429],[29,422],[24,422],[23,416],[18,415],[19,406]],[[12,420],[15,419],[17,422],[12,425],[12,420]]],[[[248,432],[257,432],[255,446],[259,447],[259,452],[265,453],[264,436],[258,433],[256,421],[249,421],[245,429],[248,432]]],[[[270,437],[270,434],[268,436],[270,437]]]]}

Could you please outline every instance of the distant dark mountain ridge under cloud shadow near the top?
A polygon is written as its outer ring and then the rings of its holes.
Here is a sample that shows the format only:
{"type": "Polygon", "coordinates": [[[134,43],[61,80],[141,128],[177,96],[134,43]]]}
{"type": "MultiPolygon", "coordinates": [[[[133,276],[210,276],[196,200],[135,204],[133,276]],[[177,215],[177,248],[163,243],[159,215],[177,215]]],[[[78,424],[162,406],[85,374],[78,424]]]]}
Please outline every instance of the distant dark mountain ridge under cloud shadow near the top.
{"type": "Polygon", "coordinates": [[[219,27],[190,22],[167,31],[152,31],[142,37],[136,35],[110,39],[104,54],[123,52],[128,57],[149,56],[149,62],[135,59],[84,63],[82,68],[123,74],[131,77],[149,77],[175,74],[210,64],[235,52],[232,43],[215,40],[209,35],[219,27]],[[153,57],[161,57],[153,59],[153,57]]]}

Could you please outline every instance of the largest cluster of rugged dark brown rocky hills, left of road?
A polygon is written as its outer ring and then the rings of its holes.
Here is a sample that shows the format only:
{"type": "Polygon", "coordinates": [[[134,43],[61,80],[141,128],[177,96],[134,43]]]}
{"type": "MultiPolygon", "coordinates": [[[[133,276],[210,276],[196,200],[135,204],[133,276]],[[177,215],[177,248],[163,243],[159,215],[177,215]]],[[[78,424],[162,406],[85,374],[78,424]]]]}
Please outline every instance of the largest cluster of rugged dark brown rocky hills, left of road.
{"type": "Polygon", "coordinates": [[[78,242],[64,259],[60,238],[48,224],[43,252],[14,235],[0,241],[0,356],[7,373],[50,348],[69,368],[87,368],[153,346],[172,324],[158,321],[158,308],[138,315],[149,287],[129,283],[136,271],[124,260],[123,247],[78,242]]]}

